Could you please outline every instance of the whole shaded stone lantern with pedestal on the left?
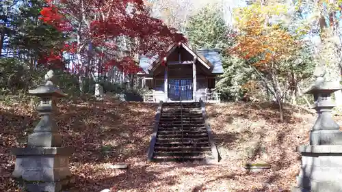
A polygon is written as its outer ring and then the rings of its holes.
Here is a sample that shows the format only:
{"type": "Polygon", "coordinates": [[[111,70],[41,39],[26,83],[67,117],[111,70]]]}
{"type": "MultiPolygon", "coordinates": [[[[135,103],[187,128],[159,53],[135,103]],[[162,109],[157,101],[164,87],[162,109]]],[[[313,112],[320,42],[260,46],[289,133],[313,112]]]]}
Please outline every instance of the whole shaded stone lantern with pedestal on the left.
{"type": "Polygon", "coordinates": [[[62,136],[53,121],[53,113],[57,110],[57,98],[66,96],[54,85],[53,70],[45,75],[44,85],[29,90],[29,94],[40,97],[36,110],[40,122],[29,135],[26,148],[14,148],[16,164],[12,176],[21,180],[23,187],[29,192],[60,192],[68,189],[74,180],[71,175],[69,156],[73,150],[62,147],[62,136]]]}

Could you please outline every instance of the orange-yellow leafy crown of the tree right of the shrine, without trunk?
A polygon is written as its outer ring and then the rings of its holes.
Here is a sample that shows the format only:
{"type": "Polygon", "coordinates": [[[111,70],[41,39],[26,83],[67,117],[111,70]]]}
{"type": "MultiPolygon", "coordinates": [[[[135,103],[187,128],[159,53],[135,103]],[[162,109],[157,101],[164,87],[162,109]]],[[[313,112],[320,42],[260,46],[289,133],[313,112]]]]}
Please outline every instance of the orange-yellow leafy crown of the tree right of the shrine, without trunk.
{"type": "Polygon", "coordinates": [[[275,65],[289,59],[298,50],[298,42],[278,23],[272,23],[273,18],[285,11],[284,5],[259,4],[237,10],[241,33],[231,51],[261,71],[274,70],[275,65]]]}

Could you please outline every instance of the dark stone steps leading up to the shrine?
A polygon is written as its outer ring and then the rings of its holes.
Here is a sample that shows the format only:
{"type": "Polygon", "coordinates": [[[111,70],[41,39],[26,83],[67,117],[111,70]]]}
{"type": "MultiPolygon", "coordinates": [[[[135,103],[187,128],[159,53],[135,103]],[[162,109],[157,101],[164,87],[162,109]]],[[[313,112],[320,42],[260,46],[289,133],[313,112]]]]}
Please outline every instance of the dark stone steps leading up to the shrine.
{"type": "Polygon", "coordinates": [[[166,102],[161,107],[152,161],[212,160],[200,102],[166,102]]]}

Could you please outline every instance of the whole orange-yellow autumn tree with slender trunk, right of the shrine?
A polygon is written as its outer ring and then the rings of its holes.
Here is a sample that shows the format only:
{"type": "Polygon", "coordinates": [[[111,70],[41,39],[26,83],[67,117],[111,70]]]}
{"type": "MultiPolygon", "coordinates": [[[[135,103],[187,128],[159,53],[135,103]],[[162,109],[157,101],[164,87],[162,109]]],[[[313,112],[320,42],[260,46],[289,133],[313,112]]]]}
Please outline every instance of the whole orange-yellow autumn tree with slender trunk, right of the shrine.
{"type": "MultiPolygon", "coordinates": [[[[262,82],[259,85],[265,86],[278,102],[281,121],[285,94],[297,92],[293,89],[293,82],[298,81],[295,70],[298,66],[294,60],[302,43],[280,22],[287,16],[287,6],[279,3],[254,3],[235,10],[239,36],[236,46],[229,50],[258,74],[262,82]]],[[[246,87],[257,87],[255,82],[250,81],[246,87]]]]}

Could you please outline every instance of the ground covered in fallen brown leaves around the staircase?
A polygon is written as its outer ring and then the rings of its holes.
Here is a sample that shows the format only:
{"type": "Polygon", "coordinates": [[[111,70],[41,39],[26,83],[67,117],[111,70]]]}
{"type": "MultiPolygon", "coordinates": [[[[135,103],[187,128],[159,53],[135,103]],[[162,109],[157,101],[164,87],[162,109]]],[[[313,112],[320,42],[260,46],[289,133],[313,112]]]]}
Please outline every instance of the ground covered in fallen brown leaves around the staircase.
{"type": "MultiPolygon", "coordinates": [[[[315,117],[285,107],[238,103],[207,106],[222,156],[217,165],[147,163],[146,150],[157,105],[140,102],[78,102],[59,105],[56,115],[64,146],[73,146],[70,169],[79,191],[289,191],[300,156],[295,147],[308,141],[315,117]],[[248,172],[244,163],[272,168],[248,172]],[[112,169],[127,163],[129,169],[112,169]]],[[[9,148],[25,146],[38,122],[31,105],[0,105],[0,191],[16,191],[10,178],[14,156],[9,148]]]]}

